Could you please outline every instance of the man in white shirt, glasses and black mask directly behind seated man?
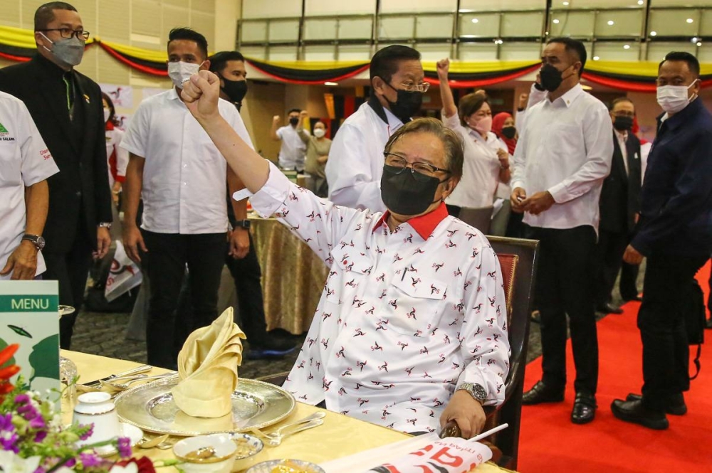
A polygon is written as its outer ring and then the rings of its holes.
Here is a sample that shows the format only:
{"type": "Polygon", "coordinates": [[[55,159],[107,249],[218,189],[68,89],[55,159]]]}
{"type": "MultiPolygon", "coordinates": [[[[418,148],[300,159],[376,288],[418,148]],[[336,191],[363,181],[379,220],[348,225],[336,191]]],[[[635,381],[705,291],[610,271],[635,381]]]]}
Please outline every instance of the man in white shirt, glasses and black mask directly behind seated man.
{"type": "Polygon", "coordinates": [[[371,97],[341,125],[326,163],[329,200],[351,208],[386,209],[381,200],[383,148],[389,137],[420,110],[429,84],[420,53],[387,46],[371,58],[371,97]]]}

